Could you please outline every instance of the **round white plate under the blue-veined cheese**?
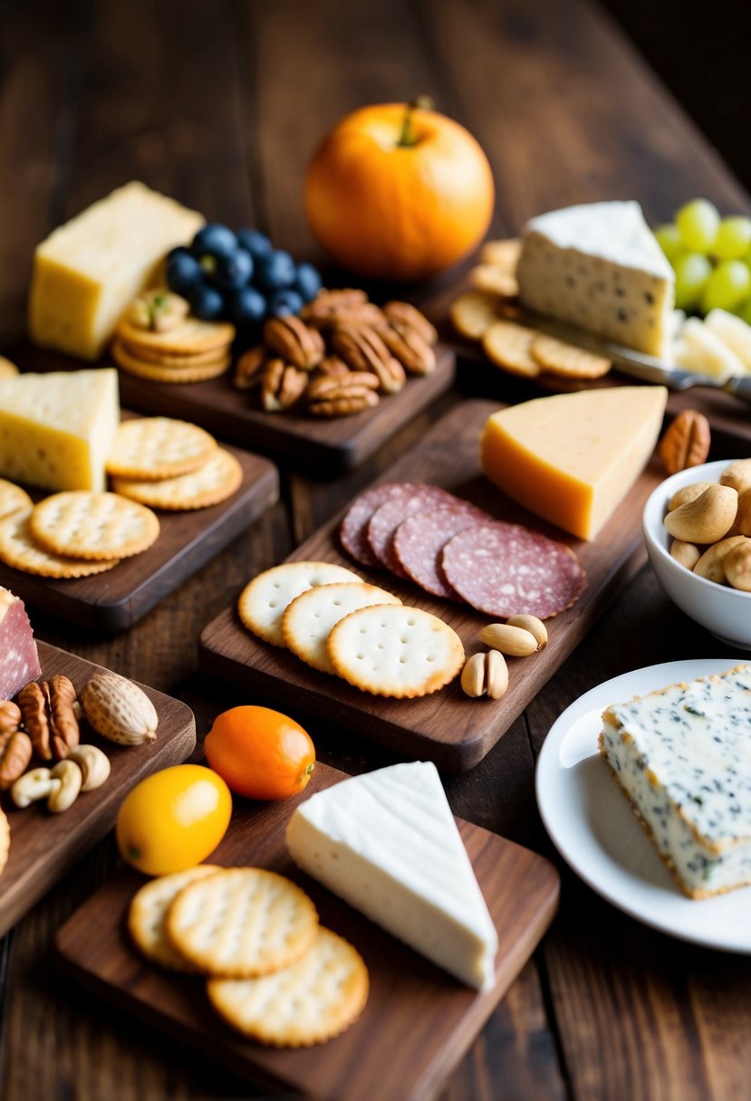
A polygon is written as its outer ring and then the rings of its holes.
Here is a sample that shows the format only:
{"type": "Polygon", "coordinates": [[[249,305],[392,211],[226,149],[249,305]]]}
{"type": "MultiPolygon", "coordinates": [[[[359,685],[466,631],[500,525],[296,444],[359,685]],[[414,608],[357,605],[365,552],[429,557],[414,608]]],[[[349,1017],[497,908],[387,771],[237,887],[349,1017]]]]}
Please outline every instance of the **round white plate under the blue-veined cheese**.
{"type": "Polygon", "coordinates": [[[751,887],[687,898],[657,855],[600,757],[600,716],[609,704],[732,668],[732,657],[666,662],[586,693],[551,729],[537,759],[537,806],[574,871],[613,906],[645,925],[708,948],[751,953],[751,887]]]}

